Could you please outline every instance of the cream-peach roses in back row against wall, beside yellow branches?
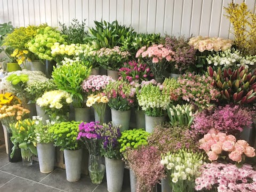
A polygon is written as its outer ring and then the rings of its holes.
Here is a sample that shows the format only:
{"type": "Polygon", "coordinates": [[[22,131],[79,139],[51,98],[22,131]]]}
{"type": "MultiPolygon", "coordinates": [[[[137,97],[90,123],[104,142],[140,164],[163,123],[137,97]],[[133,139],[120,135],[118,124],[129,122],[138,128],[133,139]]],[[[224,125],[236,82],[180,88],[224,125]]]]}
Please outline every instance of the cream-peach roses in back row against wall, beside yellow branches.
{"type": "Polygon", "coordinates": [[[190,38],[189,45],[194,46],[199,52],[204,51],[225,51],[230,49],[233,41],[231,39],[224,39],[220,37],[192,37],[190,38]]]}

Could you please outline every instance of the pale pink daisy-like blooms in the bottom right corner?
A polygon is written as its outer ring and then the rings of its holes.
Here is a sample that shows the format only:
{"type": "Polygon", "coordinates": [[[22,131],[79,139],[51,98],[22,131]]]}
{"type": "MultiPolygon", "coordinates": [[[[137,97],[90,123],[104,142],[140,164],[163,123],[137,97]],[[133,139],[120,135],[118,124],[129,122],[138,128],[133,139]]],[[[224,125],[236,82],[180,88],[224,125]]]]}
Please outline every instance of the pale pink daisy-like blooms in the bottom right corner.
{"type": "Polygon", "coordinates": [[[256,191],[256,171],[249,164],[238,168],[230,163],[212,162],[202,165],[201,172],[195,180],[197,191],[256,191]]]}

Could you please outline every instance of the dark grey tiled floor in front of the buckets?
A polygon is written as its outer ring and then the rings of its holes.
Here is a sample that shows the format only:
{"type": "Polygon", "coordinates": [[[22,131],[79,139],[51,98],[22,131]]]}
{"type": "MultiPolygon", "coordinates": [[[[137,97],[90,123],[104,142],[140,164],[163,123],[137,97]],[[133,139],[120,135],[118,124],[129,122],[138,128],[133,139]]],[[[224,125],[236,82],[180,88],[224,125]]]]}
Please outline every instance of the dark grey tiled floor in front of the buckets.
{"type": "MultiPolygon", "coordinates": [[[[0,149],[1,192],[107,192],[106,179],[100,185],[91,183],[87,175],[77,182],[66,180],[65,170],[56,168],[49,174],[39,171],[38,162],[23,167],[22,162],[10,163],[5,148],[0,149]]],[[[123,191],[130,192],[129,171],[125,170],[123,191]]]]}

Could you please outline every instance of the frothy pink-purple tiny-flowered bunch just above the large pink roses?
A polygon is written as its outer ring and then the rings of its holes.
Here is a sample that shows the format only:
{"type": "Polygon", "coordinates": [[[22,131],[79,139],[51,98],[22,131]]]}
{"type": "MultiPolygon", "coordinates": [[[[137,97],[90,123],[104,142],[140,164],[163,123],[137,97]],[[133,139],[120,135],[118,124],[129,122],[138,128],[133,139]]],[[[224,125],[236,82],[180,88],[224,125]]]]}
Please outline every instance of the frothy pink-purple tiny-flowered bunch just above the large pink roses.
{"type": "Polygon", "coordinates": [[[227,134],[237,134],[244,127],[252,127],[255,111],[239,105],[218,106],[215,110],[203,110],[195,115],[191,132],[206,134],[214,128],[227,134]]]}

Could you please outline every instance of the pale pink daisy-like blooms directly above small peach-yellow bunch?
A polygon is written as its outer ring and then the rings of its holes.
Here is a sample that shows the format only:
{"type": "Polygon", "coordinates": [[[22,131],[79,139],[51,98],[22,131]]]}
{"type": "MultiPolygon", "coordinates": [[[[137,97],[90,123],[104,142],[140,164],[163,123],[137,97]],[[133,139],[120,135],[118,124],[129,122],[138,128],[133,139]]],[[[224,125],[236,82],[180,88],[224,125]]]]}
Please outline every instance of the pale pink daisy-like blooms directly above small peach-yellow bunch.
{"type": "Polygon", "coordinates": [[[111,81],[114,81],[114,79],[106,75],[90,75],[81,86],[88,95],[98,94],[103,92],[111,81]]]}

